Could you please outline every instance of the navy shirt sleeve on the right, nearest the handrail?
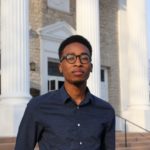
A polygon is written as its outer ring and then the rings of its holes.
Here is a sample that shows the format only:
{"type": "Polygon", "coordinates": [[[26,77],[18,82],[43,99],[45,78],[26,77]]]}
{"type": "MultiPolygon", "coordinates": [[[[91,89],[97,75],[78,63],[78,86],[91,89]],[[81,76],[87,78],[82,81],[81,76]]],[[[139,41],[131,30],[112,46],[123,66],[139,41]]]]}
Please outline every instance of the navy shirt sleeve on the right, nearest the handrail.
{"type": "Polygon", "coordinates": [[[103,133],[101,144],[102,150],[115,150],[115,113],[113,112],[112,119],[106,125],[103,133]]]}

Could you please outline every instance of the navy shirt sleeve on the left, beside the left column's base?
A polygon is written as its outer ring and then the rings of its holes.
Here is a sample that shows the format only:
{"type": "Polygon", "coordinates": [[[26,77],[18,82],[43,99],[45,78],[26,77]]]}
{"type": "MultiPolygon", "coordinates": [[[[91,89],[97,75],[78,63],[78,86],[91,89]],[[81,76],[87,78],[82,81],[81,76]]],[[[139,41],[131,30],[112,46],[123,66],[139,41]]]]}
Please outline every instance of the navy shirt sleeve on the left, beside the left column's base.
{"type": "Polygon", "coordinates": [[[15,150],[34,150],[41,132],[34,114],[35,109],[29,103],[19,126],[15,150]]]}

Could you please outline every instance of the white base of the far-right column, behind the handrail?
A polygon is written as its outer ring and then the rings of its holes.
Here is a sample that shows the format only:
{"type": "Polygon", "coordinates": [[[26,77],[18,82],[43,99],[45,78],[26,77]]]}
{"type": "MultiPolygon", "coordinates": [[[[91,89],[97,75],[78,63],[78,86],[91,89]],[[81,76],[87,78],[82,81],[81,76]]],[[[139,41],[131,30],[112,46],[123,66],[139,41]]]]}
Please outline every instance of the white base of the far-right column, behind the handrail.
{"type": "Polygon", "coordinates": [[[146,132],[144,129],[150,131],[150,107],[143,108],[129,108],[124,112],[124,118],[136,124],[133,125],[127,121],[128,132],[146,132]],[[140,128],[141,127],[141,128],[140,128]],[[143,128],[143,129],[142,129],[143,128]]]}

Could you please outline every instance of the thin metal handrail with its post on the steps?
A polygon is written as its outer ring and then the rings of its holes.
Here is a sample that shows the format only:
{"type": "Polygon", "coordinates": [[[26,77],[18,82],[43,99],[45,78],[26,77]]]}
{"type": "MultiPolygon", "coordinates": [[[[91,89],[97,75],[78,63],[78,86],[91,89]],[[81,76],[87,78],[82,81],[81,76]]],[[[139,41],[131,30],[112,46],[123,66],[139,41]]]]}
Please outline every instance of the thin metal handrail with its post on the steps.
{"type": "Polygon", "coordinates": [[[138,127],[138,128],[140,128],[140,129],[142,129],[142,130],[144,130],[144,131],[146,131],[146,132],[148,132],[148,133],[150,133],[149,130],[147,130],[147,129],[145,129],[145,128],[139,126],[139,125],[137,125],[136,123],[134,123],[134,122],[132,122],[130,120],[127,120],[126,118],[123,118],[122,116],[120,116],[118,114],[116,114],[116,116],[119,117],[119,118],[121,118],[125,122],[125,124],[124,124],[125,147],[128,147],[128,141],[127,141],[127,122],[130,123],[130,124],[132,124],[132,125],[134,125],[134,126],[136,126],[136,127],[138,127]]]}

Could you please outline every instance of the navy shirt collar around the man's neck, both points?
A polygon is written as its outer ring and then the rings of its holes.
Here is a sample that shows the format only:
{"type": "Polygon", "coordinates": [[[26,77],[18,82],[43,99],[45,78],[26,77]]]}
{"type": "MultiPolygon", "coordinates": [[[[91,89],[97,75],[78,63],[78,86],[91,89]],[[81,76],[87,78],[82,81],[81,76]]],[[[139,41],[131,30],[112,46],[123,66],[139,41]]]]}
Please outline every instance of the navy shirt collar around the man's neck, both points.
{"type": "MultiPolygon", "coordinates": [[[[71,100],[70,96],[68,95],[67,91],[65,90],[65,87],[62,86],[60,88],[60,93],[61,93],[61,99],[62,102],[65,104],[67,101],[71,100]]],[[[91,102],[92,100],[92,94],[90,93],[89,88],[87,87],[86,89],[86,96],[85,96],[85,100],[80,104],[80,105],[84,105],[87,104],[89,102],[91,102]]]]}

